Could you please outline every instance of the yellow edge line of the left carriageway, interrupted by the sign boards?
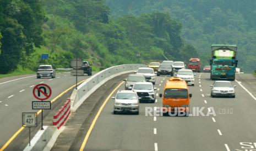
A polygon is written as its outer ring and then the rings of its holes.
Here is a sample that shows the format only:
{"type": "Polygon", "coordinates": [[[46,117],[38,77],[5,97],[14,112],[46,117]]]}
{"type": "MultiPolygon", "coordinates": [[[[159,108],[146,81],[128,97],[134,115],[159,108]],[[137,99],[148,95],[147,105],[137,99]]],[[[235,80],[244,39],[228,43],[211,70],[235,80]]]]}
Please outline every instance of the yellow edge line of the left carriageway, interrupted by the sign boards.
{"type": "MultiPolygon", "coordinates": [[[[83,83],[85,82],[87,79],[84,79],[84,80],[81,80],[78,84],[80,83],[83,83]]],[[[59,97],[61,97],[62,95],[66,94],[67,91],[69,91],[70,89],[74,88],[75,87],[75,84],[72,85],[70,88],[68,88],[67,90],[63,91],[61,94],[59,94],[58,96],[56,96],[55,98],[53,98],[51,100],[51,103],[55,102],[59,97]]],[[[42,110],[40,109],[38,112],[37,112],[37,115],[39,115],[40,113],[42,112],[42,110]]],[[[6,149],[10,143],[12,143],[12,141],[19,135],[19,133],[21,131],[24,130],[25,127],[20,127],[20,129],[14,133],[14,135],[12,137],[10,137],[10,139],[3,145],[3,147],[0,149],[0,151],[3,151],[4,149],[6,149]]]]}

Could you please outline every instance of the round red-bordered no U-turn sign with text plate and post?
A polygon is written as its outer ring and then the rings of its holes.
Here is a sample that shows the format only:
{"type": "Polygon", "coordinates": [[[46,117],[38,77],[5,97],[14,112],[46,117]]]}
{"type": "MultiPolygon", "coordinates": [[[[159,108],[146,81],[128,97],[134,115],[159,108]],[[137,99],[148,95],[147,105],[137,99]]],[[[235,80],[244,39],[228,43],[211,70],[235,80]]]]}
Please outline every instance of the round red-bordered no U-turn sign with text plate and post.
{"type": "MultiPolygon", "coordinates": [[[[35,108],[36,107],[40,107],[42,109],[42,115],[41,115],[41,130],[43,130],[43,109],[45,108],[49,108],[49,106],[47,106],[47,104],[50,101],[46,101],[45,103],[42,103],[43,100],[47,100],[48,98],[51,97],[52,95],[52,90],[50,88],[50,86],[46,85],[46,84],[37,84],[35,86],[35,88],[33,89],[33,95],[37,100],[41,101],[41,104],[39,103],[33,103],[32,102],[32,109],[34,109],[34,104],[35,104],[35,108]],[[36,106],[37,105],[37,106],[36,106]],[[45,107],[45,108],[43,108],[45,107]]],[[[50,102],[50,109],[51,109],[51,102],[50,102]]]]}

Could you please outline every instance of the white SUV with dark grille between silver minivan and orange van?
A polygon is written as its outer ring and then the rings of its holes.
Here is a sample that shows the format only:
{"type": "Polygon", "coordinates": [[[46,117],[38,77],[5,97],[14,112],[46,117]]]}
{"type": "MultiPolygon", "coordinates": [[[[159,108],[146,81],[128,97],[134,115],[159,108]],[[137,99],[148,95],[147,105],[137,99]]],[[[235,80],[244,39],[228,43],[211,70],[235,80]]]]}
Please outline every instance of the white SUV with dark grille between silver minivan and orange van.
{"type": "Polygon", "coordinates": [[[139,101],[154,103],[156,100],[156,93],[154,86],[150,82],[137,82],[133,85],[133,89],[139,96],[139,101]]]}

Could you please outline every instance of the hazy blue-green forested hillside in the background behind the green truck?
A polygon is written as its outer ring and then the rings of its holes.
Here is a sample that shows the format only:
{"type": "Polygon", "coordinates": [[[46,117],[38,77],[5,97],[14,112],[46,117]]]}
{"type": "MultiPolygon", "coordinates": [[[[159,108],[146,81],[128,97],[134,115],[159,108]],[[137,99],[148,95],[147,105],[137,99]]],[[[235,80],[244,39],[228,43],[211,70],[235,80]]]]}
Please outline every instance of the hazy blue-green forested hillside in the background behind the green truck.
{"type": "Polygon", "coordinates": [[[237,44],[238,66],[255,69],[256,1],[254,0],[107,0],[111,15],[135,16],[163,11],[181,22],[181,37],[199,52],[204,64],[211,44],[237,44]]]}

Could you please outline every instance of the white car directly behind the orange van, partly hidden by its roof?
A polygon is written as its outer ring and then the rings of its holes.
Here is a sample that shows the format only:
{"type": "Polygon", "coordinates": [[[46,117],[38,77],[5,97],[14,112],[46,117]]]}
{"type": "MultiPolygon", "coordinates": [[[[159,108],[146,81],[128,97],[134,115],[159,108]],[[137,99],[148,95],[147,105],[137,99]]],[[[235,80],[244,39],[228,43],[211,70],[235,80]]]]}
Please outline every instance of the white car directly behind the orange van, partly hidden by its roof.
{"type": "Polygon", "coordinates": [[[194,86],[195,78],[192,69],[179,69],[177,77],[182,78],[188,85],[194,86]]]}

